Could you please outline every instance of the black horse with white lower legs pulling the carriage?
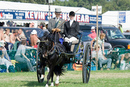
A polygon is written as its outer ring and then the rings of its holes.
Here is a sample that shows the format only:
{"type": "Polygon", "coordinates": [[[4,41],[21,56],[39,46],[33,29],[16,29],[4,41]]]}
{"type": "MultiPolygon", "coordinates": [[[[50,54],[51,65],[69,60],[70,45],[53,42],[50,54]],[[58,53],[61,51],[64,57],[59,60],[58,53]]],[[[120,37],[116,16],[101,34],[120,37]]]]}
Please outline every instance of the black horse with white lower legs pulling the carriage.
{"type": "Polygon", "coordinates": [[[63,65],[69,63],[68,57],[64,54],[66,49],[64,45],[59,42],[60,33],[55,31],[52,34],[44,34],[38,46],[38,56],[40,57],[38,73],[40,73],[40,80],[44,80],[45,66],[49,67],[47,75],[48,87],[51,78],[51,86],[53,85],[53,76],[56,75],[55,85],[59,84],[59,76],[63,73],[63,65]]]}

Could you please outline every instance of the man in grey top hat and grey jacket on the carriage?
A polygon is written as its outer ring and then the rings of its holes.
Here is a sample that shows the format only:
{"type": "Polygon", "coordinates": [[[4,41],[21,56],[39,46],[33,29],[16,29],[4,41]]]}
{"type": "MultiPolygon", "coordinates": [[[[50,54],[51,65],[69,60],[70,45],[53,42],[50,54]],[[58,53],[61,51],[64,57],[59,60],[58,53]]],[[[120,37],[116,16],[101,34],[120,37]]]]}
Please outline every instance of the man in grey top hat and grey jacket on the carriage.
{"type": "Polygon", "coordinates": [[[60,18],[61,15],[61,8],[55,8],[55,15],[56,17],[51,18],[48,23],[48,30],[52,33],[54,28],[59,28],[61,30],[61,34],[64,32],[64,21],[60,18]]]}

